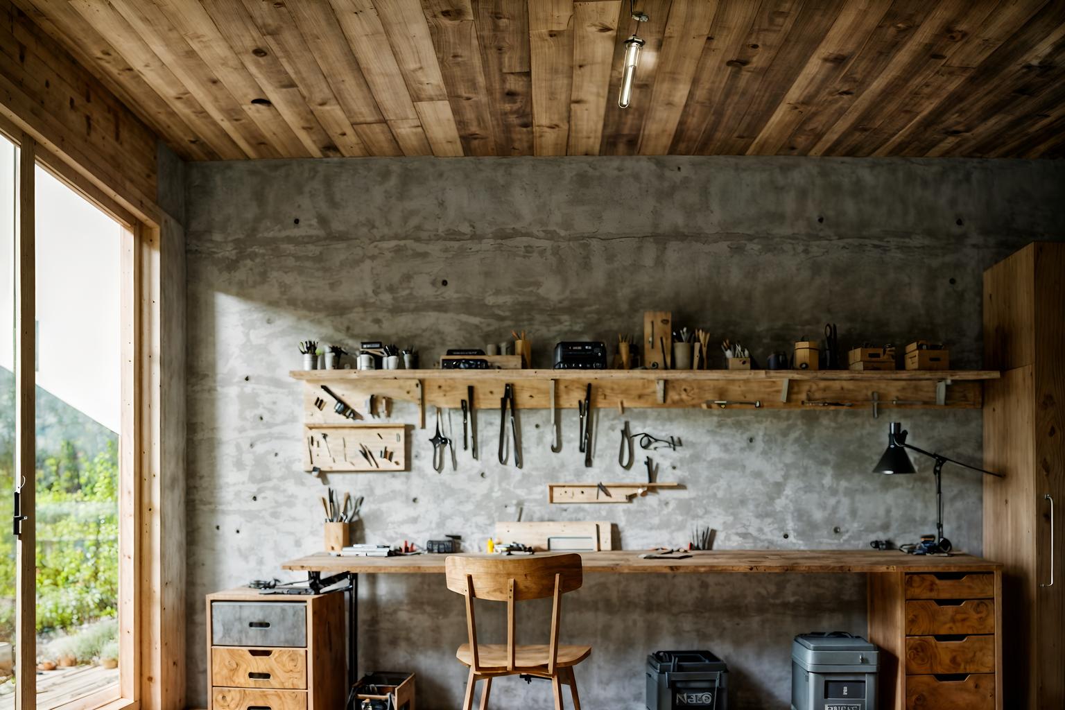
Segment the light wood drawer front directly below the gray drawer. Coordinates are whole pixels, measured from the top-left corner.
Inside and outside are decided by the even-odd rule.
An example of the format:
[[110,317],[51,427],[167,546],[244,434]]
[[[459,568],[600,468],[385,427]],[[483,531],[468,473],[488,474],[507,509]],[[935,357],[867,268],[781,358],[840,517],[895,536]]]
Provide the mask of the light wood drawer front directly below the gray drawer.
[[212,648],[211,684],[306,690],[307,651],[302,648]]

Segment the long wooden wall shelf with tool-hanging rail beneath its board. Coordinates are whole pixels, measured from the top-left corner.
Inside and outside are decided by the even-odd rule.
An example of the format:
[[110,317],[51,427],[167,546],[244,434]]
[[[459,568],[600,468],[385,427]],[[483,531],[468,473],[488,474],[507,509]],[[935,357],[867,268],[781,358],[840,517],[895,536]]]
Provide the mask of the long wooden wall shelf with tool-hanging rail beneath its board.
[[[478,410],[497,410],[504,384],[514,387],[520,409],[547,409],[555,382],[555,404],[575,409],[592,383],[592,406],[596,409],[705,409],[706,411],[752,409],[980,409],[982,380],[999,377],[986,370],[294,370],[293,379],[305,383],[307,424],[348,423],[332,411],[327,385],[362,423],[374,419],[365,412],[370,395],[390,397],[420,406],[420,424],[431,407],[459,409],[468,385],[474,387]],[[326,404],[318,409],[316,398]],[[717,406],[715,402],[759,402]]]

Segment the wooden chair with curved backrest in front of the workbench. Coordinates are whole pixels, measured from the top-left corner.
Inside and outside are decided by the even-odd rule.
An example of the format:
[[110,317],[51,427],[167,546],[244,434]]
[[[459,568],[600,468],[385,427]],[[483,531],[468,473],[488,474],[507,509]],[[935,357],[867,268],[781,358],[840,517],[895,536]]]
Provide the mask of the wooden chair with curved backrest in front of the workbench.
[[[470,666],[464,710],[473,709],[474,686],[485,681],[480,708],[488,708],[492,678],[526,674],[551,678],[555,709],[562,710],[562,686],[570,687],[574,710],[580,710],[573,666],[588,658],[591,646],[559,645],[562,595],[580,589],[583,580],[579,555],[537,555],[535,557],[449,557],[447,589],[465,597],[466,629],[470,643],[459,646],[455,656]],[[515,607],[519,601],[554,597],[551,615],[551,642],[547,645],[519,646],[514,637]],[[478,644],[474,599],[507,602],[507,643]]]

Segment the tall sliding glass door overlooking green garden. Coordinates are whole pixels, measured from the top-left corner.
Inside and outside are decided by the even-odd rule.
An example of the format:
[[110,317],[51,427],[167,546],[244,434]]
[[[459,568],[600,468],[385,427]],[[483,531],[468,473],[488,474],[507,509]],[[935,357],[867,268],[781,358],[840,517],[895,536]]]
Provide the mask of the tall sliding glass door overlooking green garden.
[[134,693],[133,232],[28,145],[0,135],[0,710],[93,710]]

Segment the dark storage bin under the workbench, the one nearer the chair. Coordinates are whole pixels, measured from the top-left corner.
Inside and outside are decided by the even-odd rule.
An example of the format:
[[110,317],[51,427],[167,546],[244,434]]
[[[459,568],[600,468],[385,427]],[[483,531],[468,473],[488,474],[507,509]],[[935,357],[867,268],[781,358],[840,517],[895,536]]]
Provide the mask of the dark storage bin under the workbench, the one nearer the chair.
[[648,656],[648,710],[727,710],[728,666],[708,650]]

